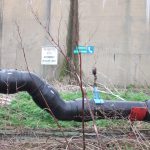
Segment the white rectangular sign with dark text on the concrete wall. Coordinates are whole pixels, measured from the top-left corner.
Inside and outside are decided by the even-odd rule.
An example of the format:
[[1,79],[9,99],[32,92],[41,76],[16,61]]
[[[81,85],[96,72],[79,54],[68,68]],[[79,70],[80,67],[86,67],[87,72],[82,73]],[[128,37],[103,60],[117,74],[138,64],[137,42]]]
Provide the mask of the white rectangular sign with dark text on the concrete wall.
[[42,47],[42,65],[57,65],[58,63],[58,50],[56,47]]

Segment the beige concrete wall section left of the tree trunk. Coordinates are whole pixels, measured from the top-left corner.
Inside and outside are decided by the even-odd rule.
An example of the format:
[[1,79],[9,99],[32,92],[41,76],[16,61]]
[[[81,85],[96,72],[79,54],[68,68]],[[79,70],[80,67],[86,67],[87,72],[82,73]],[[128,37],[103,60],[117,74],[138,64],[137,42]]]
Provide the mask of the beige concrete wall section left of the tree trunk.
[[[31,7],[46,26],[46,29],[58,41],[58,28],[61,20],[59,41],[65,51],[67,16],[64,7],[69,3],[60,3],[59,0],[1,0],[2,35],[0,49],[1,68],[14,68],[27,70],[23,50],[17,33],[16,22],[19,25],[22,36],[28,67],[30,71],[44,77],[47,80],[54,79],[59,74],[59,66],[62,56],[59,54],[57,66],[41,65],[41,50],[43,46],[51,46],[45,30],[36,22]],[[30,7],[31,6],[31,7]],[[68,9],[68,8],[67,8]],[[66,12],[68,11],[66,9]],[[63,11],[63,14],[61,14]]]

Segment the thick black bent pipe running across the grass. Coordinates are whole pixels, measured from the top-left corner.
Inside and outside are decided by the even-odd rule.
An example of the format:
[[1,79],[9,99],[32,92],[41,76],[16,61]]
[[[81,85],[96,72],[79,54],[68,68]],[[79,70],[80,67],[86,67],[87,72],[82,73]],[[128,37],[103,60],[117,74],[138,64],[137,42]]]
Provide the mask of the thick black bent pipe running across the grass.
[[[19,91],[27,91],[42,109],[49,112],[49,108],[54,116],[59,120],[82,121],[82,100],[63,101],[58,92],[37,75],[25,71],[0,70],[0,93],[14,94]],[[86,101],[85,101],[86,103]],[[150,121],[150,101],[128,102],[128,101],[105,101],[104,104],[96,105],[94,100],[89,101],[91,110],[97,119],[127,119],[132,108],[146,108],[146,113],[141,121]],[[85,121],[90,121],[90,111],[85,104]],[[136,117],[136,116],[135,116]]]

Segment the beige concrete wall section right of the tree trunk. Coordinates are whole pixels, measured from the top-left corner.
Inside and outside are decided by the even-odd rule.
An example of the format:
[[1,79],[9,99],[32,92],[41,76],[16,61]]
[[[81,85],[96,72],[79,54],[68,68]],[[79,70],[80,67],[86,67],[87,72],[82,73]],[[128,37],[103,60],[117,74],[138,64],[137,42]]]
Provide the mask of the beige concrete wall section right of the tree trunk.
[[83,55],[88,79],[95,66],[105,85],[149,85],[149,39],[146,0],[80,0],[80,44],[95,46]]

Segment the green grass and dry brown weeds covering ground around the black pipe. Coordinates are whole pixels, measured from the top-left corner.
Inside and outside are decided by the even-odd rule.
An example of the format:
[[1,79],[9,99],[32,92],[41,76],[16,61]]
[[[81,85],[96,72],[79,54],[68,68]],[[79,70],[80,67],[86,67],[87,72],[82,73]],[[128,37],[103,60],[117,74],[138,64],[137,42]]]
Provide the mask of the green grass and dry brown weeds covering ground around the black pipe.
[[[93,94],[91,91],[88,93],[88,98],[91,99]],[[103,99],[115,99],[114,96],[110,94],[101,94]],[[128,100],[137,100],[137,101],[144,101],[145,99],[149,99],[150,96],[144,94],[144,92],[133,92],[133,91],[125,91],[120,92],[120,96],[124,97]],[[81,92],[63,92],[61,93],[61,97],[67,101],[74,100],[74,99],[81,99]],[[18,93],[14,100],[11,102],[10,105],[5,105],[0,107],[0,131],[6,131],[6,133],[14,132],[13,138],[32,138],[31,143],[28,141],[28,145],[21,145],[14,141],[14,147],[12,149],[17,148],[21,149],[21,147],[28,147],[29,149],[67,149],[64,146],[64,139],[60,137],[60,132],[58,132],[58,126],[55,123],[54,119],[46,112],[41,110],[39,107],[36,106],[34,101],[32,100],[31,96],[28,95],[26,92]],[[81,139],[81,125],[82,123],[74,122],[74,121],[59,121],[59,124],[65,128],[65,135],[69,136],[69,146],[71,149],[82,149],[82,139]],[[141,134],[140,129],[146,127],[149,129],[149,124],[143,122],[136,122],[131,130],[130,122],[127,120],[97,120],[96,126],[99,129],[99,136],[102,139],[101,146],[104,149],[148,149],[149,148],[149,141],[146,137],[144,137],[144,132]],[[12,130],[7,130],[8,128],[12,128]],[[137,130],[137,127],[139,130]],[[16,128],[17,130],[14,130]],[[38,131],[36,132],[36,129]],[[56,131],[53,131],[55,134],[52,136],[48,132],[48,130],[53,128]],[[71,130],[70,130],[71,128]],[[72,129],[78,128],[78,129]],[[4,130],[3,130],[4,129]],[[25,131],[24,131],[25,129]],[[29,136],[26,135],[28,132],[26,129],[30,130]],[[40,130],[39,130],[40,129]],[[88,149],[99,149],[99,145],[97,140],[95,139],[95,134],[93,130],[93,123],[86,122],[85,123],[85,145]],[[46,131],[47,130],[47,131]],[[68,131],[67,131],[68,130]],[[31,132],[33,131],[33,133]],[[73,131],[73,132],[70,132]],[[136,131],[134,133],[134,131]],[[38,134],[39,133],[39,134]],[[41,143],[41,133],[43,134],[42,140],[44,141]],[[12,133],[11,133],[12,134]],[[33,134],[33,137],[30,137]],[[50,134],[49,137],[47,134]],[[9,135],[9,133],[8,133]],[[8,136],[7,134],[4,137]],[[59,137],[57,138],[56,135]],[[18,136],[18,137],[15,137]],[[145,138],[145,141],[142,138]],[[9,140],[10,137],[7,137],[8,140],[2,141],[1,147],[4,149],[9,148]],[[36,140],[35,140],[36,139]],[[56,140],[57,139],[57,140]],[[4,143],[5,142],[5,143]],[[33,143],[34,142],[34,143]],[[40,144],[39,144],[40,143]],[[40,147],[40,148],[39,148]]]

